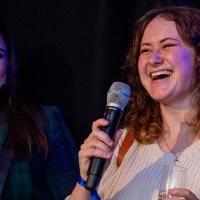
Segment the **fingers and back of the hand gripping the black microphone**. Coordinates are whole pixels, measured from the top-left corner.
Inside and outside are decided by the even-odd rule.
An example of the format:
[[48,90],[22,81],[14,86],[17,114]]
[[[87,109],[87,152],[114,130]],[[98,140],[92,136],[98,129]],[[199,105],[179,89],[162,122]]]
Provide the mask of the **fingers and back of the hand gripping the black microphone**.
[[92,125],[92,132],[81,145],[79,151],[80,175],[83,179],[87,179],[87,171],[91,157],[100,157],[109,159],[113,155],[113,141],[103,131],[103,126],[108,126],[109,122],[105,119],[99,119]]

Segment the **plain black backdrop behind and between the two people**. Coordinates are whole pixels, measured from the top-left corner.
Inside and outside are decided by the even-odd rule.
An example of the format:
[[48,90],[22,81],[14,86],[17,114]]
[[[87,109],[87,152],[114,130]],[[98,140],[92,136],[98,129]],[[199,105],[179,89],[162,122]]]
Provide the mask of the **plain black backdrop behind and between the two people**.
[[0,0],[0,18],[14,40],[29,99],[61,108],[78,145],[102,117],[132,25],[148,9],[200,7],[181,0]]

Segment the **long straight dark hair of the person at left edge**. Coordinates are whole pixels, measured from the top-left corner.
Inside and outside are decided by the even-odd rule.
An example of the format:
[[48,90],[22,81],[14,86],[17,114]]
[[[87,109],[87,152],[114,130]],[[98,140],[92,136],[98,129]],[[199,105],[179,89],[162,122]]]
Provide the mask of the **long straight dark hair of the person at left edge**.
[[38,152],[47,152],[47,140],[38,123],[45,125],[45,116],[40,106],[25,103],[20,94],[13,42],[5,25],[0,22],[0,36],[7,47],[8,66],[6,84],[0,89],[1,116],[6,116],[8,135],[5,146],[11,148],[13,159],[29,159],[33,147]]

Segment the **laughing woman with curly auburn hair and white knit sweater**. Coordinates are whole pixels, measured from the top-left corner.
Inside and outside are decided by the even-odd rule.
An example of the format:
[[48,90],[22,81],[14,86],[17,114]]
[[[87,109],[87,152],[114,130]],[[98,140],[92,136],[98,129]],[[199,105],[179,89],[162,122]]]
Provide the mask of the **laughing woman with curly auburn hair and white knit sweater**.
[[[108,121],[95,121],[79,152],[81,180],[91,157],[111,159],[97,189],[100,199],[159,199],[161,172],[175,165],[186,168],[187,187],[162,190],[164,198],[200,199],[199,58],[200,10],[153,9],[136,22],[124,65],[132,92],[123,129],[112,141],[102,131]],[[118,166],[127,136],[134,140]],[[79,182],[68,199],[89,200],[90,192]]]

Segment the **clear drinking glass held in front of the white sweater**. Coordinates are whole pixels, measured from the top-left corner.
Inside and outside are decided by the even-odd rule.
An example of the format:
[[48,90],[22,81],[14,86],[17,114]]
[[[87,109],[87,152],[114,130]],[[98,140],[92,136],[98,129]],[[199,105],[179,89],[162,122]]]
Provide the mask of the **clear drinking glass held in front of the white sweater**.
[[186,188],[186,171],[186,168],[180,166],[164,166],[158,199],[185,199],[168,194],[168,190]]

